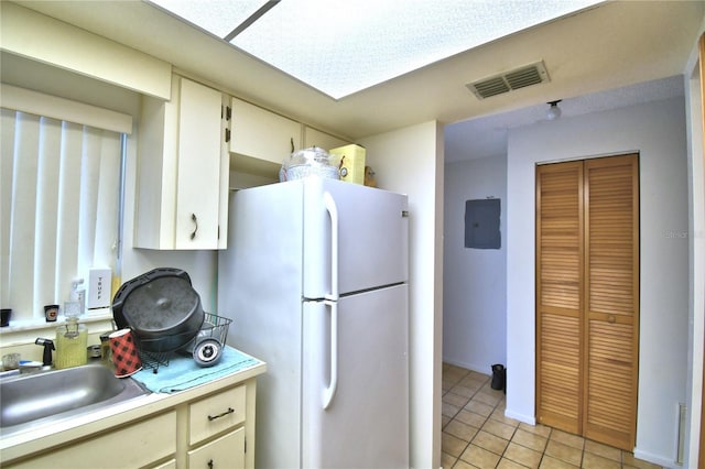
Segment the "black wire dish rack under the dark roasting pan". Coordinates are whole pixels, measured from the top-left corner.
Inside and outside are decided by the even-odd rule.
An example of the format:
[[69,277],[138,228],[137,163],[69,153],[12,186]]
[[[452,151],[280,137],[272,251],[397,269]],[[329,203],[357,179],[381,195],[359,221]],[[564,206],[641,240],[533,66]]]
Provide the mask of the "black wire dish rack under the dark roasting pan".
[[[140,359],[142,360],[142,368],[152,369],[153,372],[156,373],[159,371],[159,367],[169,367],[169,360],[173,353],[191,356],[194,346],[205,339],[215,339],[221,346],[225,346],[225,341],[228,338],[230,323],[232,323],[232,319],[227,317],[218,316],[213,313],[204,313],[204,320],[200,329],[178,335],[193,338],[177,350],[170,349],[172,340],[169,338],[139,340],[138,350]],[[144,343],[149,343],[149,347],[147,347],[149,350],[143,349]]]

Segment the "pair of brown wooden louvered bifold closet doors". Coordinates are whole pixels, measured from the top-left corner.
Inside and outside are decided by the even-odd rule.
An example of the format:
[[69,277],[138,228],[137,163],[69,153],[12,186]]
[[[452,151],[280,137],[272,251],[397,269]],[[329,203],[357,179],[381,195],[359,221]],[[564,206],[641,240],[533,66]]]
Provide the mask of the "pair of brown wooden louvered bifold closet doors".
[[536,168],[536,419],[636,438],[638,156]]

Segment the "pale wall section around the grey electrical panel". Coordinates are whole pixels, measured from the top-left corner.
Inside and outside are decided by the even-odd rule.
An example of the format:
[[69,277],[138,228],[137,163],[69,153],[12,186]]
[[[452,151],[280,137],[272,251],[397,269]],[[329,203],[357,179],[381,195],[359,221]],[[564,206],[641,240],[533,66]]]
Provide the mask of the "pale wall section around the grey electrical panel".
[[[465,248],[465,201],[501,204],[501,248]],[[507,157],[445,168],[443,361],[490,374],[507,363]]]

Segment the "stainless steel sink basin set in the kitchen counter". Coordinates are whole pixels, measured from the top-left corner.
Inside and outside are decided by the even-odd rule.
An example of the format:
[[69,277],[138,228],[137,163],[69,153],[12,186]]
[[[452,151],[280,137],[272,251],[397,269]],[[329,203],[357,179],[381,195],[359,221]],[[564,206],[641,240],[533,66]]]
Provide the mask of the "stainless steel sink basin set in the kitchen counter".
[[[3,373],[4,374],[4,373]],[[149,394],[131,378],[119,379],[101,364],[15,373],[0,378],[0,428],[63,419]]]

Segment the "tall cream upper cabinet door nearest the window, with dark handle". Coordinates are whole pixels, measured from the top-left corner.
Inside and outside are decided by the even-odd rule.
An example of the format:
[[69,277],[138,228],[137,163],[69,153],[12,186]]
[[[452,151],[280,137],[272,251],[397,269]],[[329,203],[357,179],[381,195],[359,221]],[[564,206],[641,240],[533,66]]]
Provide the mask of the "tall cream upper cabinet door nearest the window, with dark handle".
[[182,78],[178,109],[176,249],[217,249],[221,95]]

